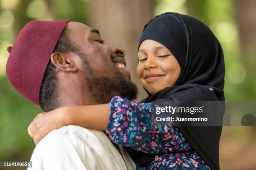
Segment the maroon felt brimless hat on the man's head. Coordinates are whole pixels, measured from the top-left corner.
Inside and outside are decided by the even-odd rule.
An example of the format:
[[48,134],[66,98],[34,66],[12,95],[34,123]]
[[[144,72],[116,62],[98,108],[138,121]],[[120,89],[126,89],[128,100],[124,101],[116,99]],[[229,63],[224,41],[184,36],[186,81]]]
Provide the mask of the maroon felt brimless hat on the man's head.
[[29,22],[20,31],[10,52],[6,74],[20,94],[39,105],[44,72],[69,20]]

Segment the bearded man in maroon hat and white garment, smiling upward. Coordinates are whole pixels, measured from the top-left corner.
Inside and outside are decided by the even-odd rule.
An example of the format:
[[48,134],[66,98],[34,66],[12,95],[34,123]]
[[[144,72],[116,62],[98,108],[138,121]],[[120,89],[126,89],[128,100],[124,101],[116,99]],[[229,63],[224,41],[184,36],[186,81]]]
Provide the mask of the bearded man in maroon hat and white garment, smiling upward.
[[[82,23],[32,21],[8,51],[10,83],[46,112],[107,103],[114,95],[130,100],[137,95],[125,69],[124,50],[104,45],[98,30]],[[69,125],[38,143],[32,169],[134,169],[123,148],[121,153],[125,161],[103,132]]]

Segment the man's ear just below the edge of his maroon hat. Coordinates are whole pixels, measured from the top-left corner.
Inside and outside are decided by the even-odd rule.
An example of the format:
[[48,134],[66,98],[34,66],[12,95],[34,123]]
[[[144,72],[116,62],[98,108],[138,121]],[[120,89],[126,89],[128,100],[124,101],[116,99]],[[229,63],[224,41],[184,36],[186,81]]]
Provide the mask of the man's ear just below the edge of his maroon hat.
[[77,72],[78,68],[74,65],[73,60],[61,52],[54,52],[51,55],[51,62],[55,67],[66,72]]

